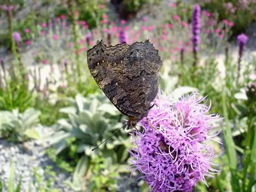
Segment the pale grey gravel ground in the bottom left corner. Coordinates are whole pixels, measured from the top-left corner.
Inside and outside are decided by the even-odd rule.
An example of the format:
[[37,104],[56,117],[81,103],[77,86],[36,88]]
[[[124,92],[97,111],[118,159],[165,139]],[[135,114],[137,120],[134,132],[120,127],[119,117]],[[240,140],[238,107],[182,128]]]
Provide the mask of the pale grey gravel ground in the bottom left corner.
[[[45,133],[52,131],[49,127],[38,127],[37,130]],[[70,179],[70,174],[60,170],[45,154],[44,148],[45,146],[37,140],[17,144],[0,139],[0,178],[2,181],[8,183],[10,164],[13,160],[15,163],[15,186],[17,186],[19,176],[22,175],[22,191],[29,191],[30,183],[35,181],[31,175],[33,167],[37,167],[37,173],[47,180],[48,178],[44,174],[47,166],[52,166],[52,170],[56,173],[52,187],[63,192],[70,191],[70,188],[63,183],[66,179]],[[4,191],[7,191],[7,187],[4,187]],[[33,184],[31,191],[36,191]]]

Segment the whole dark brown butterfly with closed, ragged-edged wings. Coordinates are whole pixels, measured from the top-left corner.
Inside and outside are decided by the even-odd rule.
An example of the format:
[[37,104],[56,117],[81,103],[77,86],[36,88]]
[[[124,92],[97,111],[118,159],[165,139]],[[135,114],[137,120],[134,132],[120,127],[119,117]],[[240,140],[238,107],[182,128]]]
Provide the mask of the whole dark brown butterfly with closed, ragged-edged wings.
[[89,70],[116,108],[129,117],[127,129],[147,116],[158,93],[162,61],[149,40],[106,47],[97,41],[87,52]]

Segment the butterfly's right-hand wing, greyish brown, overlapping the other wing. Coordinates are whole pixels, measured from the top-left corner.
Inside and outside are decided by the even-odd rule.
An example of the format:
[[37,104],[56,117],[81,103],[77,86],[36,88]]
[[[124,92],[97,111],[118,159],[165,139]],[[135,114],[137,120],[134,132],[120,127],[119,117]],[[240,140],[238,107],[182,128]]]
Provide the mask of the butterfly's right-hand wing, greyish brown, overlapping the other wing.
[[123,62],[126,74],[124,91],[132,108],[143,118],[158,93],[161,58],[158,50],[147,40],[131,45]]

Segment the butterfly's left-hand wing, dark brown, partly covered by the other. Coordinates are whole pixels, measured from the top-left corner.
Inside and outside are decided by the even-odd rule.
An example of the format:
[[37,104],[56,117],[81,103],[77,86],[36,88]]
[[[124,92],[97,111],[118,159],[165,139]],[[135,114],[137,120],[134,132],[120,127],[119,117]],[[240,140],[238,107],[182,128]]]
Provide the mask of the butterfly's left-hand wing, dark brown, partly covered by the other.
[[125,72],[123,58],[129,49],[126,43],[106,47],[102,40],[87,52],[89,70],[100,89],[116,108],[127,116],[138,116],[132,108],[124,87]]

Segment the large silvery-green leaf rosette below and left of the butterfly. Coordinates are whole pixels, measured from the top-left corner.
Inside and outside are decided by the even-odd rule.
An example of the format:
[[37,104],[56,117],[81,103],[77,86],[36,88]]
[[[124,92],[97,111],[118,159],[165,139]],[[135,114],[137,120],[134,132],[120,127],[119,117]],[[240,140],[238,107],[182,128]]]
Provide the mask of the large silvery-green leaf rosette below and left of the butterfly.
[[90,176],[92,159],[102,156],[111,166],[124,163],[129,157],[127,149],[131,147],[131,143],[127,131],[121,129],[92,151],[94,146],[122,126],[119,122],[122,115],[103,94],[87,98],[77,94],[75,99],[67,98],[67,101],[70,106],[61,108],[60,112],[66,113],[68,118],[59,119],[55,133],[46,140],[54,148],[56,155],[67,157],[67,153],[73,151],[74,157],[80,157],[73,175],[73,188],[76,190],[75,186],[80,188],[82,178]]

